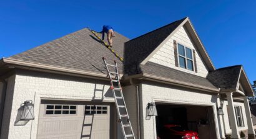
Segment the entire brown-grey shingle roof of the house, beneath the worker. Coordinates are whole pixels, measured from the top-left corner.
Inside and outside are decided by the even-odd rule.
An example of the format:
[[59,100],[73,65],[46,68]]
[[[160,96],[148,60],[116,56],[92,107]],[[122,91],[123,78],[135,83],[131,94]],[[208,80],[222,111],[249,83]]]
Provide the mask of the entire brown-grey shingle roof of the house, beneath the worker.
[[120,73],[123,74],[147,73],[212,89],[234,88],[241,66],[217,69],[210,72],[207,78],[202,78],[152,62],[140,65],[184,20],[177,20],[132,40],[116,32],[112,48],[121,57],[124,57],[124,63],[102,45],[89,29],[79,30],[10,58],[94,73],[103,72],[102,74],[104,74],[106,72],[102,62],[102,56],[104,56],[107,61],[116,60],[120,67]]

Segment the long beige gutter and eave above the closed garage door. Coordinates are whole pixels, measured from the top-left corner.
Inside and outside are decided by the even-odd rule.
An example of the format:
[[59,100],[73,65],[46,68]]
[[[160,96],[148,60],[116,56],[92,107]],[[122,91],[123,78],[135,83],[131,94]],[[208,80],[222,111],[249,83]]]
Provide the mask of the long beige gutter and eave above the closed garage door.
[[[71,68],[63,68],[61,66],[44,65],[41,63],[34,63],[29,61],[14,60],[11,58],[2,58],[0,60],[0,69],[27,69],[32,71],[41,71],[46,73],[65,74],[69,76],[79,76],[93,79],[109,80],[106,74],[94,73],[90,71],[82,71]],[[1,70],[0,70],[1,71]],[[122,74],[120,75],[122,77]]]

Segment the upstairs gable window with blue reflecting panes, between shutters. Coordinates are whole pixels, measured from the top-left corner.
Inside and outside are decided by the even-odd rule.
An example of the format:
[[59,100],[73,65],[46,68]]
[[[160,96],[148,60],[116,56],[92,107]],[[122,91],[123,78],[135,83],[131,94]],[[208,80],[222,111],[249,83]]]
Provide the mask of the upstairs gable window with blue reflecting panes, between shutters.
[[192,50],[178,43],[179,66],[194,71]]

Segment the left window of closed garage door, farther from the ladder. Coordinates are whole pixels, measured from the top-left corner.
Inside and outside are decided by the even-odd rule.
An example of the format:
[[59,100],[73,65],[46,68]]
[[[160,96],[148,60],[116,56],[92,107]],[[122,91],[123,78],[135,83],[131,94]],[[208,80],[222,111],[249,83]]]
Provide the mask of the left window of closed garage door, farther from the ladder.
[[46,115],[76,114],[76,105],[46,105]]

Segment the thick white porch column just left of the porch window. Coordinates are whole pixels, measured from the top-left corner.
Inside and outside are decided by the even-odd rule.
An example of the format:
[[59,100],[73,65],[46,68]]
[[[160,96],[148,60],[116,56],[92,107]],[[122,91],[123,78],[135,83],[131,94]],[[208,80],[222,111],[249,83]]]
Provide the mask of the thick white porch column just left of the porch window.
[[232,130],[231,138],[237,139],[240,138],[239,130],[237,128],[237,120],[235,118],[235,108],[233,102],[233,92],[227,92],[227,102],[229,106],[229,114],[230,114],[230,125]]

